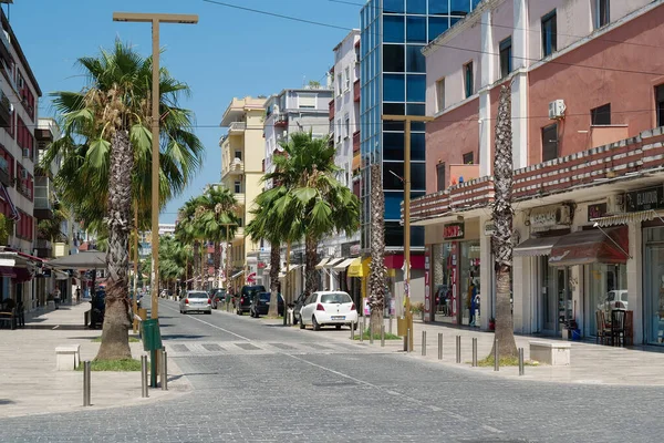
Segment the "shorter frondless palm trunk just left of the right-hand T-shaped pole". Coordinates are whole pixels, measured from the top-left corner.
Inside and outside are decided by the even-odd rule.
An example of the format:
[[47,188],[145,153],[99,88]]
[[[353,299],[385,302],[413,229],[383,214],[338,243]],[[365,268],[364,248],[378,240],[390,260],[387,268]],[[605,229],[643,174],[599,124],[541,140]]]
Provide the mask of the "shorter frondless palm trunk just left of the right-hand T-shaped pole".
[[[371,166],[371,264],[369,265],[369,307],[371,309],[371,333],[381,332],[385,310],[385,197],[381,177],[381,165]],[[364,333],[364,331],[362,332]]]

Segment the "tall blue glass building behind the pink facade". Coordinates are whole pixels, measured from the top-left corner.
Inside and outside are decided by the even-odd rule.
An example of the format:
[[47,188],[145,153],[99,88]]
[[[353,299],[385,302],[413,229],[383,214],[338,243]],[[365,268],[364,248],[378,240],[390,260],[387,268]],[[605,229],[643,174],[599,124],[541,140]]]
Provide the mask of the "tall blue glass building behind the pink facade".
[[[385,241],[403,249],[404,124],[381,114],[425,115],[426,66],[422,49],[468,14],[480,0],[369,0],[361,12],[362,247],[370,245],[369,166],[382,164]],[[425,194],[424,123],[411,134],[411,198]],[[411,245],[424,247],[424,228],[412,228]]]

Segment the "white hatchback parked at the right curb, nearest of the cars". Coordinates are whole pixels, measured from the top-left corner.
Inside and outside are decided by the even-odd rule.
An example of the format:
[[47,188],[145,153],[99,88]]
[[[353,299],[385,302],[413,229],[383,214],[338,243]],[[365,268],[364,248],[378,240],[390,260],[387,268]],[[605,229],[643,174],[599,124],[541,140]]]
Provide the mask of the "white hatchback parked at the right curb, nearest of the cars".
[[313,292],[304,300],[300,310],[300,329],[308,324],[314,331],[328,324],[334,324],[336,329],[341,329],[343,324],[357,329],[357,309],[346,292]]

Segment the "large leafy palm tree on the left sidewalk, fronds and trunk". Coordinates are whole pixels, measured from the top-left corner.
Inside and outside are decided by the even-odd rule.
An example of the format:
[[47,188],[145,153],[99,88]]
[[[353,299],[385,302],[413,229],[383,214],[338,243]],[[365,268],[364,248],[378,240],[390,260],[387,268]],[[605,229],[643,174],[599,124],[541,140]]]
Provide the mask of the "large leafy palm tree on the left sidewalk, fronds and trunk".
[[[62,114],[63,137],[51,144],[44,164],[62,155],[54,182],[63,202],[90,224],[103,220],[108,233],[108,284],[102,344],[96,359],[131,358],[127,297],[132,204],[145,208],[151,169],[149,97],[152,59],[115,42],[112,51],[81,58],[89,79],[80,92],[53,93]],[[162,203],[180,192],[200,165],[203,146],[190,132],[193,115],[177,106],[188,86],[160,71]]]

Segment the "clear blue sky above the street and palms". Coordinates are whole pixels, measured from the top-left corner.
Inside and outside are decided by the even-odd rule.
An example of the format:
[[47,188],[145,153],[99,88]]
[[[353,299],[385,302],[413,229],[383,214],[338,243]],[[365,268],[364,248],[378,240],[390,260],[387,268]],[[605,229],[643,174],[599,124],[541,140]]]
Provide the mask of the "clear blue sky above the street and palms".
[[[362,0],[354,0],[362,3]],[[360,6],[329,0],[224,0],[246,8],[271,11],[343,28],[360,25]],[[8,7],[3,6],[6,13]],[[224,130],[221,113],[234,96],[269,95],[320,80],[333,64],[332,49],[347,33],[313,24],[260,16],[203,0],[14,0],[10,23],[43,92],[40,116],[52,116],[49,93],[76,91],[84,84],[77,58],[110,48],[116,37],[149,55],[147,23],[113,22],[114,11],[196,13],[199,23],[164,24],[162,63],[191,89],[184,103],[196,113],[197,134],[206,146],[204,167],[178,198],[162,213],[162,223],[207,183],[219,181]]]

